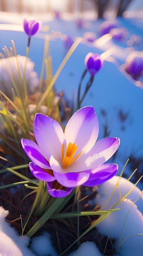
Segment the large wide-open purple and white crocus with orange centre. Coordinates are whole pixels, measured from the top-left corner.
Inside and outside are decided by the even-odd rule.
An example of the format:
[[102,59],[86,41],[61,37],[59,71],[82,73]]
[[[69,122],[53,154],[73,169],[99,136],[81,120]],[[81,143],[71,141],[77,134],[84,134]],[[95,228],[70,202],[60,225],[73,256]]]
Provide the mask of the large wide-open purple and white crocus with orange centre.
[[[37,144],[22,139],[31,173],[46,181],[53,197],[69,195],[76,186],[95,186],[117,173],[117,164],[103,164],[117,150],[119,138],[98,138],[98,118],[92,106],[76,111],[69,119],[65,132],[47,115],[37,113],[34,135]],[[96,142],[96,143],[95,143]]]

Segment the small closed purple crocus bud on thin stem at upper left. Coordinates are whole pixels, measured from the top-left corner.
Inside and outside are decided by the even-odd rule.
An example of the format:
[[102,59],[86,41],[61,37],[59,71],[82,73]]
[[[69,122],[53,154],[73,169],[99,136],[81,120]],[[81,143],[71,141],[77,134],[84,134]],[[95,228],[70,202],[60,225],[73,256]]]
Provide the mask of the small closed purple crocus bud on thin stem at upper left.
[[23,27],[25,33],[28,35],[29,38],[31,38],[31,36],[34,36],[41,29],[41,21],[28,20],[28,18],[24,16]]

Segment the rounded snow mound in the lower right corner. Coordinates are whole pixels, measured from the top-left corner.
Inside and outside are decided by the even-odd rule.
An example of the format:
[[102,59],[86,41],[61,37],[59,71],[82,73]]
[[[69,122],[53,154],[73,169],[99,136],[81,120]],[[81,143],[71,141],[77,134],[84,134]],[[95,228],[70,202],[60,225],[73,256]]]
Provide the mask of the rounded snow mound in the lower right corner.
[[[115,184],[119,180],[119,186],[111,196]],[[119,208],[119,210],[112,212],[102,220],[97,229],[100,234],[116,239],[114,248],[116,250],[119,249],[119,253],[122,256],[141,255],[143,251],[143,235],[137,235],[143,234],[143,214],[141,213],[141,211],[143,212],[143,192],[138,187],[135,187],[123,201],[119,202],[133,186],[134,184],[125,178],[115,176],[111,180],[104,182],[97,189],[98,196],[95,198],[95,204],[100,205],[100,210]],[[110,196],[111,199],[106,204]],[[138,198],[139,200],[134,203]]]

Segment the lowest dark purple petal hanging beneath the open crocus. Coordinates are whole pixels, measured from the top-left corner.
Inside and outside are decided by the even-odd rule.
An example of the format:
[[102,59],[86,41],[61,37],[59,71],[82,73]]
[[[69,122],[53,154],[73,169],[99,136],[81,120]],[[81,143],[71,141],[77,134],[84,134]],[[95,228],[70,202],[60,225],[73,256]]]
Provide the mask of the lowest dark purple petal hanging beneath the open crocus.
[[73,188],[66,188],[65,190],[62,189],[54,189],[53,188],[53,182],[46,182],[47,183],[47,189],[48,189],[48,193],[50,195],[52,195],[54,198],[62,198],[64,196],[69,195]]

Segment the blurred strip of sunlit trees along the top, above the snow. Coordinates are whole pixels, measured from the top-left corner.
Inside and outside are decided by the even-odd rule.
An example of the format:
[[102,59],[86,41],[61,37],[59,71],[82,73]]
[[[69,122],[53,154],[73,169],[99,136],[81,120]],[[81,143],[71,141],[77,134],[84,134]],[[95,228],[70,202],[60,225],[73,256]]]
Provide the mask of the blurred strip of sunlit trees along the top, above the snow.
[[143,0],[0,0],[0,11],[16,13],[93,12],[96,18],[110,13],[143,11]]

